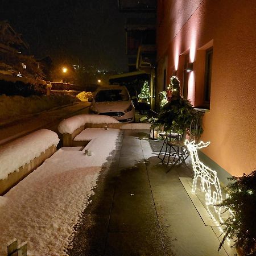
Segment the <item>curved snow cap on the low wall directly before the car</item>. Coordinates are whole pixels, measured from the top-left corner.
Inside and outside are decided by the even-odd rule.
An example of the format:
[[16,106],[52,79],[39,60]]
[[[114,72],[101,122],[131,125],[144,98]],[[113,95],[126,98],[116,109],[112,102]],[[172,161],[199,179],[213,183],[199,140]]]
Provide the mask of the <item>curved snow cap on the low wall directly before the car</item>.
[[85,123],[120,123],[117,119],[109,117],[108,115],[91,115],[82,114],[75,115],[60,122],[58,130],[61,134],[72,134],[77,128]]

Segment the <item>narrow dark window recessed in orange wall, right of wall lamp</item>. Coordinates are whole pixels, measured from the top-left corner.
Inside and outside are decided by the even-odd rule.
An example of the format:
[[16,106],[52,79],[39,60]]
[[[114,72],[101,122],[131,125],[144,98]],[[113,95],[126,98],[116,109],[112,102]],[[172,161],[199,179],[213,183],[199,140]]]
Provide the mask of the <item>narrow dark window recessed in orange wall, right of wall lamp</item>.
[[204,83],[204,101],[205,105],[210,105],[210,85],[212,81],[212,56],[213,48],[205,52],[205,83]]

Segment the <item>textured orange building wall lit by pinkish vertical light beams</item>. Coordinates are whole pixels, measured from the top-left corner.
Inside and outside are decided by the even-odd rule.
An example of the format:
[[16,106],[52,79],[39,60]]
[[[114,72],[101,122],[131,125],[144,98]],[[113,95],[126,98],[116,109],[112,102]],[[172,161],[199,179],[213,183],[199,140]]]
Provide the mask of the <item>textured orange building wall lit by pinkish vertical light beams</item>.
[[[167,80],[177,69],[182,80],[182,54],[189,53],[188,98],[200,102],[201,61],[213,45],[210,111],[204,115],[204,154],[234,176],[256,168],[256,1],[159,0],[158,62],[168,56]],[[203,72],[204,73],[204,72]]]

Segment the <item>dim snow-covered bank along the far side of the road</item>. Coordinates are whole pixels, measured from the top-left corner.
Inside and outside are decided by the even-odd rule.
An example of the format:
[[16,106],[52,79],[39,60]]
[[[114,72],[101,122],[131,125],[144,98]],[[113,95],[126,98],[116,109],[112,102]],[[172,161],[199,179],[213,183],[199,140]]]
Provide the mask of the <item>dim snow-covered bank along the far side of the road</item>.
[[80,102],[80,100],[70,95],[22,97],[2,94],[0,95],[0,125],[74,102]]

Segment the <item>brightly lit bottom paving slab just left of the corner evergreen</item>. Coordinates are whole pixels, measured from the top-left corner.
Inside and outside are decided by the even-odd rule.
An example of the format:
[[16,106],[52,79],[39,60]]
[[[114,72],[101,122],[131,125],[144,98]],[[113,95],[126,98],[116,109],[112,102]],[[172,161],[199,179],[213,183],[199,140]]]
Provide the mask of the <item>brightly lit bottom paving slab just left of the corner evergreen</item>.
[[199,214],[164,214],[159,221],[167,255],[227,256],[223,249],[218,252],[218,238]]

